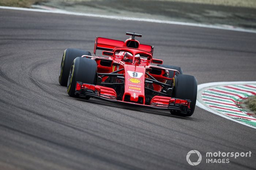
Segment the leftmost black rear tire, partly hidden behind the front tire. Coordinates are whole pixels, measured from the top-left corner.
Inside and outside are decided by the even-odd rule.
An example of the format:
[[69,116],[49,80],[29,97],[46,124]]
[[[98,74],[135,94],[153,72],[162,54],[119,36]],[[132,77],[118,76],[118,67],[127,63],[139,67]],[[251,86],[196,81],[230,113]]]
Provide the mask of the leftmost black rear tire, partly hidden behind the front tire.
[[67,86],[68,83],[68,75],[70,71],[71,64],[74,59],[77,57],[81,57],[82,55],[90,55],[89,51],[78,50],[74,48],[67,48],[62,56],[61,64],[60,64],[60,74],[59,74],[59,83],[61,86]]

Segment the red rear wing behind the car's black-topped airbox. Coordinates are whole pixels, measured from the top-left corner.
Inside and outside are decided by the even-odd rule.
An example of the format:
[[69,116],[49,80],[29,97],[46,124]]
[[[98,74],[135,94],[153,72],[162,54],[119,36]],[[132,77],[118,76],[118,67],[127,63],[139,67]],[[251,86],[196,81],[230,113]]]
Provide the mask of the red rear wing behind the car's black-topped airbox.
[[[108,38],[96,37],[94,44],[94,54],[96,50],[112,51],[115,47],[124,47],[124,41],[113,40]],[[139,44],[139,50],[151,52],[153,54],[154,47],[146,44]]]

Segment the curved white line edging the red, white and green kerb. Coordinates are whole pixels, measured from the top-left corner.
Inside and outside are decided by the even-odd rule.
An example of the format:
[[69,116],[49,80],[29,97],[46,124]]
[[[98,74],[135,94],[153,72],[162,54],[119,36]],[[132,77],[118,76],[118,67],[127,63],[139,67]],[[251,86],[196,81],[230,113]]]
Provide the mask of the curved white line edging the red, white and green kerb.
[[211,108],[205,106],[205,105],[203,104],[203,102],[201,102],[201,101],[198,100],[198,98],[200,97],[199,95],[201,95],[201,94],[199,94],[198,92],[201,91],[201,90],[204,89],[204,88],[209,88],[209,87],[212,87],[212,86],[220,86],[220,85],[223,86],[223,85],[229,85],[229,84],[232,84],[232,85],[233,85],[233,84],[251,84],[251,83],[254,83],[254,84],[255,84],[256,82],[212,82],[212,83],[199,84],[199,85],[197,86],[197,100],[196,100],[196,106],[198,106],[198,107],[200,107],[200,108],[202,108],[202,109],[204,109],[204,110],[207,110],[207,111],[209,111],[209,112],[211,112],[211,113],[213,113],[213,114],[219,115],[219,116],[221,116],[221,117],[223,117],[223,118],[226,118],[226,119],[232,120],[232,121],[234,121],[234,122],[237,122],[237,123],[240,123],[240,124],[244,124],[245,126],[252,127],[253,129],[256,129],[255,126],[252,126],[252,125],[247,124],[247,123],[244,123],[244,122],[242,122],[242,121],[239,121],[239,120],[230,118],[229,116],[226,116],[226,115],[223,115],[223,114],[221,114],[221,113],[219,113],[219,112],[217,112],[217,111],[214,111],[214,110],[212,110]]

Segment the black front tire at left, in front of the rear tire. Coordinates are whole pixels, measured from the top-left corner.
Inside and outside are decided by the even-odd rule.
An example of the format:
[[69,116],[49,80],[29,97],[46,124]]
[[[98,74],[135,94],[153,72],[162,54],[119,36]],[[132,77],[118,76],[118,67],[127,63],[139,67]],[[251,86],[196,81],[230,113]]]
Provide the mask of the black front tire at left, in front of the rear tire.
[[[95,60],[77,57],[73,61],[68,76],[68,95],[75,97],[76,82],[96,84],[97,63]],[[89,99],[89,98],[87,98]]]

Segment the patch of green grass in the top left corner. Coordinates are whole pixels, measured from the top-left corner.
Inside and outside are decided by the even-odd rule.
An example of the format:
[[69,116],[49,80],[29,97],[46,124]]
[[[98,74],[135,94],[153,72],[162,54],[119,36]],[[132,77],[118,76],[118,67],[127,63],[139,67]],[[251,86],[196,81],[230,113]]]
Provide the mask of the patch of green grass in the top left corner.
[[0,0],[0,6],[30,8],[31,5],[47,0]]

